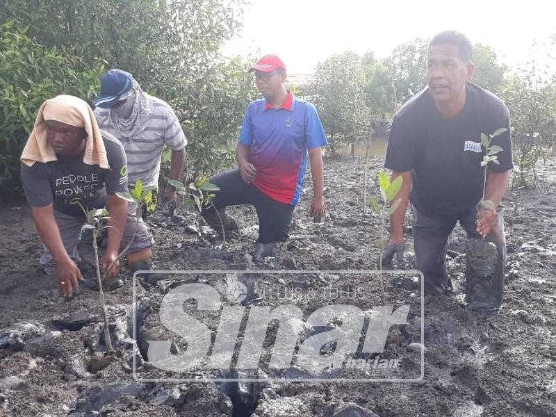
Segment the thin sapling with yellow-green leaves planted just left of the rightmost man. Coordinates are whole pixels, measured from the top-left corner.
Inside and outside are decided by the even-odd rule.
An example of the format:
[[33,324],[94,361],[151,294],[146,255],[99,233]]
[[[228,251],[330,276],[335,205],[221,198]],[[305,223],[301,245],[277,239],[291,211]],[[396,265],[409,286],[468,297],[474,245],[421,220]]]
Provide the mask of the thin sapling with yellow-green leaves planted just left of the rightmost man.
[[380,195],[382,197],[382,204],[378,202],[378,199],[376,197],[371,196],[369,198],[370,206],[373,207],[373,211],[375,211],[375,213],[377,213],[377,215],[380,216],[380,239],[378,240],[378,247],[380,251],[379,278],[380,278],[380,291],[382,292],[383,302],[384,302],[384,280],[382,277],[382,266],[383,266],[382,251],[384,251],[386,245],[388,245],[388,238],[386,238],[385,236],[386,234],[385,222],[386,222],[386,217],[393,215],[393,213],[395,213],[395,211],[398,210],[398,207],[402,202],[402,199],[400,198],[395,199],[394,201],[395,196],[398,195],[398,191],[402,187],[402,181],[403,178],[401,175],[396,179],[394,179],[394,181],[390,181],[390,177],[386,173],[386,171],[379,170],[378,183],[380,188]]

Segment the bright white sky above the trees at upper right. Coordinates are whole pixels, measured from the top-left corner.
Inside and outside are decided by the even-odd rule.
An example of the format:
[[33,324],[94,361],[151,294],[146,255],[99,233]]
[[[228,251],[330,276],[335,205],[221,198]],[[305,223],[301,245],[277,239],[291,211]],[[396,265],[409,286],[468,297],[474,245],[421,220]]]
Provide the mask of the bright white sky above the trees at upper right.
[[[446,29],[493,47],[500,62],[525,62],[534,40],[556,34],[556,3],[527,1],[252,0],[242,33],[227,56],[278,54],[289,74],[311,74],[332,54],[374,51],[384,58],[400,43]],[[554,68],[556,70],[556,68]]]

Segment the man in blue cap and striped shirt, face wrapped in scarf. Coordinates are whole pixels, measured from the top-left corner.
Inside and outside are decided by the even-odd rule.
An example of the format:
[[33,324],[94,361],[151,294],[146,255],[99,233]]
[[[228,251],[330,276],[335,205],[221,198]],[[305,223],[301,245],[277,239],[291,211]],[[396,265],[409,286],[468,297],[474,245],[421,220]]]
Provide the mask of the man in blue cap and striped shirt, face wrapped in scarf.
[[[130,184],[140,179],[143,186],[158,188],[165,146],[172,149],[170,179],[181,179],[187,140],[165,101],[143,92],[129,72],[109,70],[101,77],[100,95],[93,103],[100,128],[124,146]],[[176,191],[167,186],[163,202],[175,198]]]

